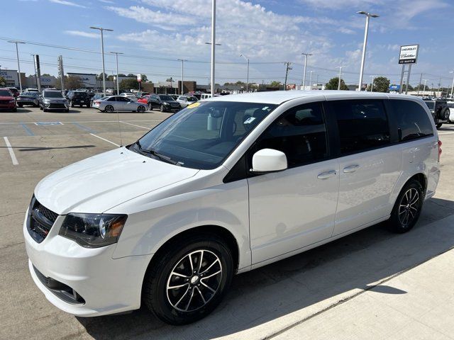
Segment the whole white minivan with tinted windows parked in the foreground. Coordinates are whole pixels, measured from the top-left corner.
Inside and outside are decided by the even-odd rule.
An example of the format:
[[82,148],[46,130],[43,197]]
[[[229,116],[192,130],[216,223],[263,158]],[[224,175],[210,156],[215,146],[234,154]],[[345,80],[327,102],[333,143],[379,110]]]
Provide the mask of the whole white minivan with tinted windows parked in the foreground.
[[31,276],[82,317],[135,310],[186,324],[236,273],[378,222],[407,232],[440,176],[419,98],[353,91],[220,96],[36,186]]

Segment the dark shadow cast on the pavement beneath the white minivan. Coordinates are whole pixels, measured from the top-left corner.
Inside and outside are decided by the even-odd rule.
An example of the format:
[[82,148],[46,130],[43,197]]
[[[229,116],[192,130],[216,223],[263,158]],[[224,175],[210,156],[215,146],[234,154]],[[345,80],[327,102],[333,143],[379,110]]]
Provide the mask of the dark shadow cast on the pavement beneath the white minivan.
[[[259,327],[353,289],[368,290],[454,246],[454,228],[441,221],[454,202],[432,198],[411,232],[392,234],[381,223],[335,242],[243,273],[209,317],[181,327],[141,308],[131,314],[77,320],[95,339],[212,339]],[[115,283],[112,283],[115,284]],[[379,294],[406,294],[384,283]],[[237,334],[238,336],[238,334]]]

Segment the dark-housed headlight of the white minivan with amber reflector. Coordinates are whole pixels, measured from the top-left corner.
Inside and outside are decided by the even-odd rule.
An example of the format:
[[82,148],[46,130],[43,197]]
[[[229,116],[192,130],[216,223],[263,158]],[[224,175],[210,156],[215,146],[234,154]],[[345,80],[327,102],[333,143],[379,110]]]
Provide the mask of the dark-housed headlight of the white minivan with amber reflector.
[[108,246],[118,241],[126,218],[128,215],[68,214],[58,234],[87,248]]

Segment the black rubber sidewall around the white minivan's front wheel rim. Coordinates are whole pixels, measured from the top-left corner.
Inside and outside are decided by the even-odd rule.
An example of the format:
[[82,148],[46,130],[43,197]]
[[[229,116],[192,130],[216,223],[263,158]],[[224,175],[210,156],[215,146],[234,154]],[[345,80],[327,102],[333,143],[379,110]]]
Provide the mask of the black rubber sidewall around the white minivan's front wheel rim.
[[[189,242],[185,242],[185,244],[188,243]],[[228,247],[215,237],[193,239],[187,246],[180,248],[175,247],[175,249],[177,250],[170,251],[163,261],[160,261],[160,265],[157,266],[155,271],[155,277],[151,278],[148,282],[148,284],[153,287],[151,290],[148,290],[149,294],[145,298],[148,307],[158,318],[162,319],[162,321],[170,324],[189,324],[208,315],[221,302],[231,284],[233,276],[233,257]],[[216,295],[214,295],[204,307],[201,307],[199,310],[194,310],[193,312],[180,312],[175,310],[167,300],[167,280],[172,269],[184,256],[199,249],[212,251],[220,259],[223,268],[221,283]],[[147,290],[145,290],[145,292],[146,291]]]

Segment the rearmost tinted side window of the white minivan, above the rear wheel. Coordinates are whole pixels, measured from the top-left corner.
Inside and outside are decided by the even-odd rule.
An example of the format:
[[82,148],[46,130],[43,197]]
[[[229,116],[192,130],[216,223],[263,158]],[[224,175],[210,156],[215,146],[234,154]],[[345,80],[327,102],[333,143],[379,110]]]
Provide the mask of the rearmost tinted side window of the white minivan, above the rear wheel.
[[391,100],[394,119],[397,122],[400,140],[433,135],[432,124],[423,107],[414,101]]

